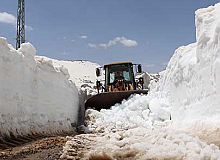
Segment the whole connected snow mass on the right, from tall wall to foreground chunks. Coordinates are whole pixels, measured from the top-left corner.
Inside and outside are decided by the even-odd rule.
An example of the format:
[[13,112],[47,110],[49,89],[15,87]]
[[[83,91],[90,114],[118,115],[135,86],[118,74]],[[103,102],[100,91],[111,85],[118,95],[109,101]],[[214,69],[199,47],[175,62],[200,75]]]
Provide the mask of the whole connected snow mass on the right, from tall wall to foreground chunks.
[[[197,42],[178,48],[159,82],[110,110],[87,111],[85,159],[220,160],[220,3],[196,11]],[[171,120],[170,120],[171,119]]]

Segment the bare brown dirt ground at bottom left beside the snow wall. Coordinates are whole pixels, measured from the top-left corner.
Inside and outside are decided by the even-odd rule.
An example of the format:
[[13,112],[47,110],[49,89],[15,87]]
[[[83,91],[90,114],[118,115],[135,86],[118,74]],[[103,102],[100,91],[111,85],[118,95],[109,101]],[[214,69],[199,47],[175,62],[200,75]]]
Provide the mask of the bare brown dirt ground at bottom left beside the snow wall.
[[49,137],[0,151],[0,160],[58,160],[68,137]]

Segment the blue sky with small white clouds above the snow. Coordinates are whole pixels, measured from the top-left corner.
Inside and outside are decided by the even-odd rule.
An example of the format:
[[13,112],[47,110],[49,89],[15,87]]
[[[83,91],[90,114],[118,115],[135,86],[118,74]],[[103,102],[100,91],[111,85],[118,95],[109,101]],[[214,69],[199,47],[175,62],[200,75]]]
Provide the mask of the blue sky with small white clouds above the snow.
[[[155,73],[165,68],[176,48],[195,42],[195,10],[218,2],[26,0],[26,40],[38,55],[100,65],[132,61]],[[16,16],[16,9],[17,0],[1,0],[0,36],[14,46],[10,16]]]

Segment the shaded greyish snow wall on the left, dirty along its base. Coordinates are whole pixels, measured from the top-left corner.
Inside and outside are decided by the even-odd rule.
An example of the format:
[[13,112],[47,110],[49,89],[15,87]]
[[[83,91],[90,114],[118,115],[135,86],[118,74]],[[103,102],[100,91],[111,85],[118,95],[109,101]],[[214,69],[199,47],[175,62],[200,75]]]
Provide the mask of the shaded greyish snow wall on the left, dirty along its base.
[[35,53],[29,43],[16,51],[0,37],[0,137],[69,132],[77,122],[78,91],[68,70]]

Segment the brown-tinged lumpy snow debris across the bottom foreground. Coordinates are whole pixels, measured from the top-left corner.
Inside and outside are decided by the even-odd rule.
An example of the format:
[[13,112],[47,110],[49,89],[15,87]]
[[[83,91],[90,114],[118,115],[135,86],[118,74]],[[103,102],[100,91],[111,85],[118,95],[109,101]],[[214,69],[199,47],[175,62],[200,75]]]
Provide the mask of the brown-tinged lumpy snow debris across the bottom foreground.
[[[83,143],[83,146],[80,144]],[[81,159],[219,159],[219,147],[169,127],[133,128],[105,134],[78,135],[64,147],[61,158],[82,153]],[[77,151],[75,150],[77,148]],[[74,150],[73,150],[74,149]],[[85,151],[86,150],[86,151]]]

